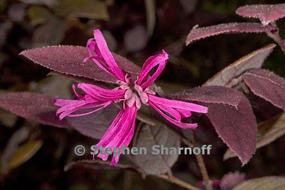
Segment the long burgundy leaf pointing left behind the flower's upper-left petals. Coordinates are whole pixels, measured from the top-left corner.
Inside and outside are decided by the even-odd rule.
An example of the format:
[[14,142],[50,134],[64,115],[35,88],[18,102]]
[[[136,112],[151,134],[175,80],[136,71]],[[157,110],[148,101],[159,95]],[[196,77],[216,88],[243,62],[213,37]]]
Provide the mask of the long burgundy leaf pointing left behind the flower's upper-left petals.
[[[86,47],[51,46],[25,50],[20,54],[60,73],[112,83],[117,81],[115,77],[100,69],[92,60],[83,62],[83,59],[89,56]],[[115,53],[113,55],[121,69],[133,74],[140,73],[140,67],[120,55]]]

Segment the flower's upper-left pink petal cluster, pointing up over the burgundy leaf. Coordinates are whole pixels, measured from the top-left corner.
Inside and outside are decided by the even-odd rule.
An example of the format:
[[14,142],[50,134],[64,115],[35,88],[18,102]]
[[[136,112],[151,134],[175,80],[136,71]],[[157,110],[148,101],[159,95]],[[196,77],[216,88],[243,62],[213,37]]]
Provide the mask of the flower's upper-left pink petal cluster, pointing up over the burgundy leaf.
[[100,30],[94,30],[94,39],[87,42],[89,57],[84,59],[92,59],[98,67],[113,75],[120,81],[125,81],[125,73],[118,67],[111,51],[109,50],[103,34]]

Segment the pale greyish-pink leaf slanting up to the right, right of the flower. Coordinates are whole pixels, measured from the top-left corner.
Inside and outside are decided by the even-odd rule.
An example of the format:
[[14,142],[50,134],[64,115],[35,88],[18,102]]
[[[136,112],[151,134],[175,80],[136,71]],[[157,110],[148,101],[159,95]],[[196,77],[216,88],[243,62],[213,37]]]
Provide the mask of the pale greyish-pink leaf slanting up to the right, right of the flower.
[[239,76],[246,70],[261,68],[274,47],[275,44],[270,44],[241,57],[210,78],[203,86],[235,86],[241,80]]

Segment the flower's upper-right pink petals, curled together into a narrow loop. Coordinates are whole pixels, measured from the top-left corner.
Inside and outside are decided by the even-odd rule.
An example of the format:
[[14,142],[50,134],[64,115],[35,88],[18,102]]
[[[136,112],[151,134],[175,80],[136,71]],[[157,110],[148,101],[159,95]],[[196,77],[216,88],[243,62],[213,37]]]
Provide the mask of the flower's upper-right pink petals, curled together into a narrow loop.
[[[148,59],[146,59],[146,61],[142,66],[142,71],[136,84],[141,86],[143,90],[149,87],[164,69],[167,59],[168,59],[168,54],[164,50],[162,50],[162,53],[151,56]],[[156,65],[158,65],[156,71],[153,73],[152,76],[148,78],[149,72]]]

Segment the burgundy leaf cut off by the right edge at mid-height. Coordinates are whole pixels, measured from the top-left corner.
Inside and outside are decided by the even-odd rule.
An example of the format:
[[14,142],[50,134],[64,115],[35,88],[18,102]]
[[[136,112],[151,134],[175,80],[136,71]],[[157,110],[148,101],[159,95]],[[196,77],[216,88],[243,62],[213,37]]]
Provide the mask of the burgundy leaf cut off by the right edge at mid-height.
[[251,91],[285,110],[285,79],[265,69],[252,69],[242,75]]

